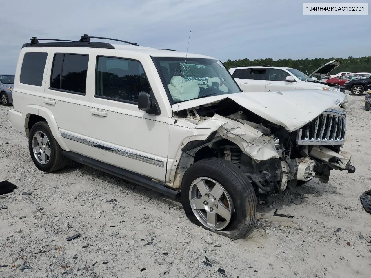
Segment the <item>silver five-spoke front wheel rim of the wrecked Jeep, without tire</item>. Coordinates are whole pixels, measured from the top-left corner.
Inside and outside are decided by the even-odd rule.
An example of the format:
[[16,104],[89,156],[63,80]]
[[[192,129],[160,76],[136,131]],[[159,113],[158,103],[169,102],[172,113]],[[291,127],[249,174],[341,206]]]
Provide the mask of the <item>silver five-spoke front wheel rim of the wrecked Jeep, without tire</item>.
[[220,183],[200,177],[192,183],[189,198],[192,211],[202,225],[212,230],[221,230],[229,224],[233,202]]

